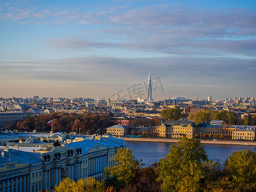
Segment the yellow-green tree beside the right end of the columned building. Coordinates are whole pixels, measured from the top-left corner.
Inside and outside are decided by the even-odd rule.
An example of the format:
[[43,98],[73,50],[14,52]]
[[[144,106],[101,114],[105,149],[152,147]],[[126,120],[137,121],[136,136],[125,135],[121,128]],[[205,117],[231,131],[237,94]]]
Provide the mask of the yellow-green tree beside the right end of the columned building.
[[140,163],[134,158],[132,150],[129,148],[120,148],[114,156],[115,166],[107,167],[105,174],[108,179],[114,177],[116,182],[114,187],[118,188],[134,178],[136,170],[140,167]]

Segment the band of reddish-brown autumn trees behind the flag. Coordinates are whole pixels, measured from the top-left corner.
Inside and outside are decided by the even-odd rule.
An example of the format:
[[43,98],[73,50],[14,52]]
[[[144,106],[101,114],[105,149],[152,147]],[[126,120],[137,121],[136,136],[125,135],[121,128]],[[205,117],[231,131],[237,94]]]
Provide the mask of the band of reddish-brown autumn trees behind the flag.
[[[106,132],[106,128],[114,125],[113,118],[106,114],[92,114],[92,115],[73,115],[73,114],[59,114],[52,113],[47,115],[30,115],[24,120],[19,121],[12,129],[17,127],[21,131],[37,131],[49,132],[51,131],[51,125],[47,125],[47,122],[52,120],[53,131],[79,131],[81,133],[94,134]],[[10,127],[12,127],[10,125]],[[100,131],[99,131],[100,130]]]

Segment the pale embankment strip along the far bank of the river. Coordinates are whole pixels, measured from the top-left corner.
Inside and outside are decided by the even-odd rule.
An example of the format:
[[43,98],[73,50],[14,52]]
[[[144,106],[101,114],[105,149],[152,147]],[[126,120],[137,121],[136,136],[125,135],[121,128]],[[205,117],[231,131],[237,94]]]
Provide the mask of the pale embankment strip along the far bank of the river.
[[[124,141],[140,141],[140,142],[158,142],[158,143],[177,143],[179,140],[167,138],[122,138]],[[213,140],[200,140],[202,144],[214,145],[250,145],[256,146],[256,141],[213,141]]]

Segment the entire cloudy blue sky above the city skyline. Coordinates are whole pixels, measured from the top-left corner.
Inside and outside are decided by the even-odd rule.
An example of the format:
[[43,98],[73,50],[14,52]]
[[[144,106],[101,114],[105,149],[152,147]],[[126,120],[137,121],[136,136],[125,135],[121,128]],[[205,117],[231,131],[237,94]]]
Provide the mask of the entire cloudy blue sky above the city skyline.
[[146,98],[149,72],[161,83],[153,99],[255,97],[255,8],[255,1],[0,1],[0,97]]

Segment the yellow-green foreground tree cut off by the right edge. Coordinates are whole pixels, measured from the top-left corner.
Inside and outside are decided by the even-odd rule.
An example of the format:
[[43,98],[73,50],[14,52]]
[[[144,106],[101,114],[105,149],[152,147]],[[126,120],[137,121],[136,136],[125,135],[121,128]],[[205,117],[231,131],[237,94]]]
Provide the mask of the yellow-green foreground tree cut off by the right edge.
[[232,152],[226,167],[235,188],[244,191],[246,187],[250,191],[256,191],[256,152],[250,149]]

